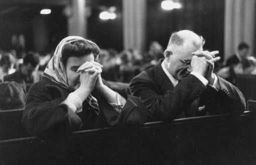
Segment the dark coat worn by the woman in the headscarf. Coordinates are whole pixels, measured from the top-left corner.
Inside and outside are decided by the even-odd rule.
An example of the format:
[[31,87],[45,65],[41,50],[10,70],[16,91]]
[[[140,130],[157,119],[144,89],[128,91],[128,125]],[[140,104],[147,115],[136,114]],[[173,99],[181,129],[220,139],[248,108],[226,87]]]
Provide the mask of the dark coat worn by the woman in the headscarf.
[[142,124],[147,120],[141,100],[125,94],[126,92],[120,92],[127,102],[118,113],[94,90],[92,95],[98,100],[99,115],[86,100],[83,102],[83,111],[79,113],[75,113],[68,105],[61,104],[71,92],[46,77],[35,83],[28,92],[23,113],[22,123],[27,130],[34,135],[53,135],[81,129]]

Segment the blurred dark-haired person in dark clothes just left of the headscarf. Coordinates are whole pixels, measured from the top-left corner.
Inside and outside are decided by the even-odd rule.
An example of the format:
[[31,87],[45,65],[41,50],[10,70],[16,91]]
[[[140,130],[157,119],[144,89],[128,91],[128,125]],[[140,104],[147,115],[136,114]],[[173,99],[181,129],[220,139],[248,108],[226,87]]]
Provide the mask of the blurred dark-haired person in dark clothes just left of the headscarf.
[[[4,77],[4,81],[15,81],[20,83],[26,89],[26,83],[34,83],[36,77],[35,72],[37,71],[39,65],[39,56],[36,54],[27,54],[20,68],[9,75]],[[38,78],[40,79],[40,78]]]

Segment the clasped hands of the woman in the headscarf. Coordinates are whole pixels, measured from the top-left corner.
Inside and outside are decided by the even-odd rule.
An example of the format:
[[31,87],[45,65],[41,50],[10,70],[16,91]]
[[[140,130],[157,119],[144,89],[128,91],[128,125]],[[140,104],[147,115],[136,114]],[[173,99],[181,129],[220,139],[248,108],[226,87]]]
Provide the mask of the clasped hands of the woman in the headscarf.
[[102,72],[102,65],[91,61],[82,64],[77,71],[80,71],[80,89],[91,92],[96,84],[98,75]]

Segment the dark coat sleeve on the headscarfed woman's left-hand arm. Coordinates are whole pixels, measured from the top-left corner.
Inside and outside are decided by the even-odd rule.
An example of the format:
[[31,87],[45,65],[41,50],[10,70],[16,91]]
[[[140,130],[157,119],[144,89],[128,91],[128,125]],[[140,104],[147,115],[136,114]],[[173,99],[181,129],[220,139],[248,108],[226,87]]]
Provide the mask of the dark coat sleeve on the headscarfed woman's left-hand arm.
[[66,134],[79,130],[81,118],[61,102],[68,96],[53,85],[34,84],[28,92],[22,123],[33,135]]

